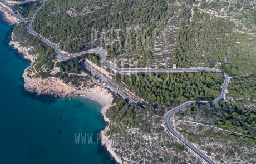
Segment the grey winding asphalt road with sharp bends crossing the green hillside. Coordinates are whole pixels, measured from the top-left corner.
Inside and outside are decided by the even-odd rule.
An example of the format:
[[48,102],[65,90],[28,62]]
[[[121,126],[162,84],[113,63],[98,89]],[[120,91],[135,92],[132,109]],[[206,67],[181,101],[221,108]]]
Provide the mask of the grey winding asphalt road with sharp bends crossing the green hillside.
[[[6,2],[6,0],[3,0],[4,2]],[[29,1],[26,1],[29,2]],[[22,3],[26,3],[26,2],[22,2]],[[7,3],[7,2],[6,2]],[[7,3],[8,4],[8,3]],[[21,3],[19,3],[21,4]],[[14,5],[14,4],[9,4],[9,5]],[[42,7],[42,6],[41,6]],[[57,52],[57,56],[56,58],[59,61],[66,61],[72,57],[77,57],[80,56],[82,54],[86,54],[86,53],[95,53],[95,54],[99,54],[99,56],[102,58],[102,61],[105,63],[105,65],[107,67],[109,67],[110,69],[114,70],[114,71],[119,71],[119,72],[166,72],[166,73],[174,73],[174,72],[199,72],[199,71],[210,71],[210,72],[215,72],[215,73],[221,73],[223,74],[223,78],[224,78],[224,83],[223,86],[220,89],[220,95],[218,98],[216,98],[216,100],[214,101],[189,101],[189,102],[185,102],[182,105],[175,107],[174,110],[171,110],[169,112],[167,112],[164,116],[164,122],[165,122],[165,126],[166,128],[168,128],[168,130],[176,137],[178,138],[178,140],[180,140],[181,142],[183,142],[186,146],[188,146],[192,151],[194,151],[198,156],[200,156],[205,162],[208,163],[215,163],[213,160],[211,160],[208,156],[206,156],[203,152],[201,152],[200,150],[198,150],[198,148],[196,148],[193,144],[191,144],[188,140],[185,140],[185,138],[183,138],[181,135],[179,135],[178,132],[176,132],[174,130],[174,128],[171,126],[171,118],[173,117],[173,115],[176,112],[181,111],[183,108],[189,106],[189,105],[193,105],[193,103],[197,103],[197,104],[203,104],[206,105],[206,103],[210,103],[211,105],[215,105],[218,101],[223,100],[224,99],[224,93],[225,90],[227,89],[228,83],[229,83],[229,79],[227,77],[227,75],[225,75],[225,73],[219,71],[218,69],[214,69],[214,68],[186,68],[186,69],[158,69],[158,68],[117,68],[115,66],[112,66],[106,59],[106,55],[107,52],[104,49],[100,49],[100,48],[94,48],[94,49],[90,49],[88,51],[82,51],[80,53],[75,53],[75,54],[66,54],[66,53],[62,53],[60,51],[60,49],[56,46],[56,44],[52,43],[51,41],[49,41],[47,38],[42,37],[40,34],[36,33],[35,31],[33,31],[32,27],[32,23],[34,21],[35,18],[35,14],[36,12],[38,12],[40,9],[38,8],[32,15],[31,21],[28,24],[28,31],[33,34],[36,37],[40,37],[40,39],[47,43],[49,46],[53,47],[55,49],[55,51]],[[88,66],[87,66],[88,67]],[[115,87],[114,87],[115,88]],[[118,91],[117,91],[118,92]]]

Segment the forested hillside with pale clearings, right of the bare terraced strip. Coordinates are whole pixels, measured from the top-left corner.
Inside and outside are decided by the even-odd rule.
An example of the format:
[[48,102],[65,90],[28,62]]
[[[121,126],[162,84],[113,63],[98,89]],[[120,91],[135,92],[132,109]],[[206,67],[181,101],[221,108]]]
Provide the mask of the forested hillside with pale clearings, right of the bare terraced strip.
[[190,26],[180,29],[173,62],[216,67],[229,76],[255,73],[255,1],[196,1],[193,11]]

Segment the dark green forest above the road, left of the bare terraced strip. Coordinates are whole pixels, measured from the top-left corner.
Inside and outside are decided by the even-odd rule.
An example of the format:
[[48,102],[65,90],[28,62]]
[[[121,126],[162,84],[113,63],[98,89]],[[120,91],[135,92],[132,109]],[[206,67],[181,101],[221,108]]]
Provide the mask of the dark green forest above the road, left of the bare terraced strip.
[[[175,11],[179,11],[180,21],[188,24],[191,16],[188,8],[160,0],[50,0],[36,14],[33,29],[70,53],[101,45],[110,57],[132,51],[139,64],[145,66],[146,59],[152,63],[154,39]],[[111,47],[109,42],[113,41]]]

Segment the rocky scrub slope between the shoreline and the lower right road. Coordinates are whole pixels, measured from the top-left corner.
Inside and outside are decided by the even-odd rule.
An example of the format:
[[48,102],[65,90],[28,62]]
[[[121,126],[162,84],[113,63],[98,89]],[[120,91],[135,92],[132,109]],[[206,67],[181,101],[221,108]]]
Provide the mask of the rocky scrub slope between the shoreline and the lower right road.
[[144,107],[116,98],[107,113],[110,130],[106,132],[121,161],[131,163],[200,163],[200,158],[165,130],[165,109],[152,103]]

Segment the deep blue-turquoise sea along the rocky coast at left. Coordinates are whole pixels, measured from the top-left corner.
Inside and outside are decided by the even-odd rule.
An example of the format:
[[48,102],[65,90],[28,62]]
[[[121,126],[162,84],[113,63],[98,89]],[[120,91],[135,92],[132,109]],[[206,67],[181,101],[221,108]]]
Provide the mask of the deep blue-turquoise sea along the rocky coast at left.
[[[0,16],[0,163],[115,163],[97,140],[99,104],[24,91],[29,62],[8,46],[13,28]],[[78,133],[92,134],[92,144],[76,144]]]

